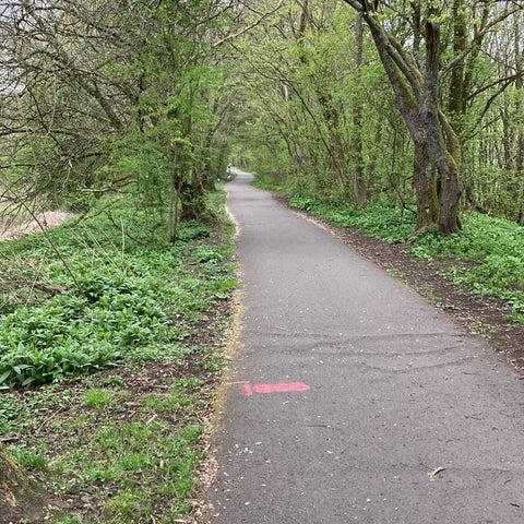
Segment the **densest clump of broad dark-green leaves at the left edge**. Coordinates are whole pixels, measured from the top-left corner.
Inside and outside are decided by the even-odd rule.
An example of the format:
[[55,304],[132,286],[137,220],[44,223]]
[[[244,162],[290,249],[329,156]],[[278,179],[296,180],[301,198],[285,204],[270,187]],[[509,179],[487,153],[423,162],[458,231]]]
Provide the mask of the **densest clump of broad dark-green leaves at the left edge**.
[[116,366],[121,350],[158,336],[166,317],[146,285],[91,272],[82,287],[20,308],[0,325],[0,384],[27,385]]

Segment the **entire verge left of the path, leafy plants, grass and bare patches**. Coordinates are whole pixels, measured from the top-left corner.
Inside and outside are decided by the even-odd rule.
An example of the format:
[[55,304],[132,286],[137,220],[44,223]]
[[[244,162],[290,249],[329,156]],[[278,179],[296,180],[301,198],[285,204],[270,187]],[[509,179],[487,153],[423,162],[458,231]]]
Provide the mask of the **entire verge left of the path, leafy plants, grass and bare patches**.
[[233,227],[222,214],[144,245],[140,227],[123,242],[110,224],[126,216],[53,229],[64,261],[41,235],[1,245],[60,289],[4,296],[0,317],[0,434],[47,485],[51,524],[189,522],[199,488],[237,287]]

